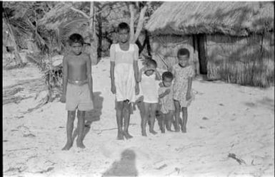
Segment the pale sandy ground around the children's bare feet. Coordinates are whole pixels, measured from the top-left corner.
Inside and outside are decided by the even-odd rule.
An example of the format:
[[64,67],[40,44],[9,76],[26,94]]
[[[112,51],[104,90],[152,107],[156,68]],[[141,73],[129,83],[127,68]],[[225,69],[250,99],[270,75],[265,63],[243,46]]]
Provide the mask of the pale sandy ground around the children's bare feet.
[[109,60],[92,73],[96,109],[86,116],[91,122],[86,149],[74,144],[61,151],[65,104],[56,100],[28,112],[44,89],[41,73],[31,65],[4,70],[4,91],[22,87],[16,94],[29,97],[3,105],[4,176],[274,176],[274,87],[196,78],[186,134],[161,134],[156,123],[158,134],[143,137],[134,111],[129,128],[134,138],[118,141]]

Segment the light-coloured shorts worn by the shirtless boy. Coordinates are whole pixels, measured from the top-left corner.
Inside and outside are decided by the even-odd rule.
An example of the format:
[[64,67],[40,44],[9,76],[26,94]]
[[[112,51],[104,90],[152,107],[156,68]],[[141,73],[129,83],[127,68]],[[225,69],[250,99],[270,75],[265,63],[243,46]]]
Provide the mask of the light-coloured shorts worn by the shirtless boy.
[[72,85],[68,83],[66,92],[66,110],[90,111],[94,103],[90,97],[89,85]]

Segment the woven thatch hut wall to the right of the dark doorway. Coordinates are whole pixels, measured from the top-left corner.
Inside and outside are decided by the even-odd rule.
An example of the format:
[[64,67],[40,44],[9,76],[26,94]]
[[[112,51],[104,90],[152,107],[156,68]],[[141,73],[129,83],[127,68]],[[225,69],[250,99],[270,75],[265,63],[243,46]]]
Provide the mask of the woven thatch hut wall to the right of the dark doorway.
[[206,36],[207,77],[240,85],[274,85],[274,33]]

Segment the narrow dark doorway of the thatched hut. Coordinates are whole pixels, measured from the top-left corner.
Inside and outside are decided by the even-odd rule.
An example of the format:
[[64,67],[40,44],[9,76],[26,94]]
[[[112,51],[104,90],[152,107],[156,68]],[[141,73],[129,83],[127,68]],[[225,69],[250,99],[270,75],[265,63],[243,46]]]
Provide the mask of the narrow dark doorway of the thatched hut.
[[199,72],[202,75],[207,74],[207,60],[206,60],[206,35],[199,34],[197,36],[198,43],[198,55],[199,55]]

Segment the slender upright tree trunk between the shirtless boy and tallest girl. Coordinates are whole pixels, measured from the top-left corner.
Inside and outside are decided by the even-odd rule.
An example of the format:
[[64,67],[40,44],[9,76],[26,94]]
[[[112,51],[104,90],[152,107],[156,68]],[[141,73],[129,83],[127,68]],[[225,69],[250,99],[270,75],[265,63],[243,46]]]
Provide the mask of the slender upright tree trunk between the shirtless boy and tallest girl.
[[94,13],[94,1],[91,1],[90,4],[90,23],[89,23],[89,31],[90,31],[90,57],[91,57],[91,65],[97,64],[97,51],[96,51],[96,30],[94,26],[94,19],[95,19],[95,13]]

